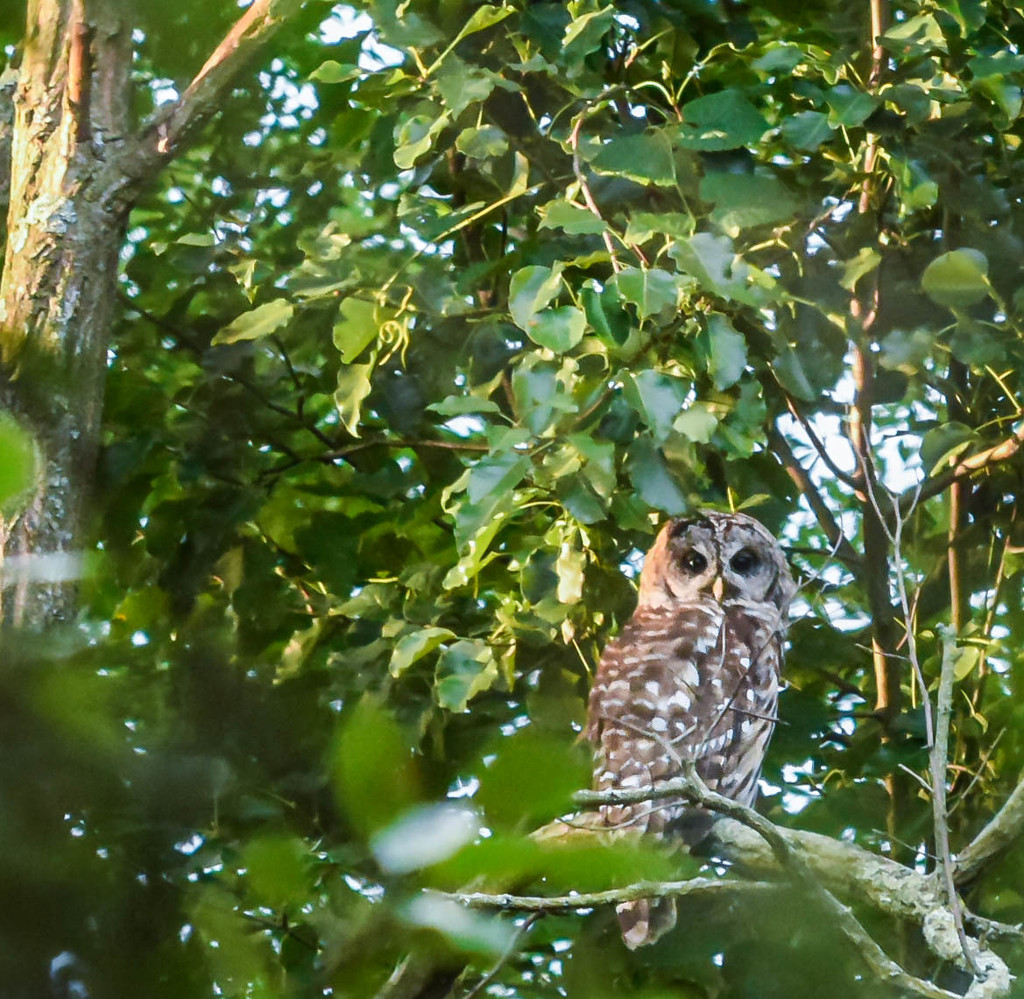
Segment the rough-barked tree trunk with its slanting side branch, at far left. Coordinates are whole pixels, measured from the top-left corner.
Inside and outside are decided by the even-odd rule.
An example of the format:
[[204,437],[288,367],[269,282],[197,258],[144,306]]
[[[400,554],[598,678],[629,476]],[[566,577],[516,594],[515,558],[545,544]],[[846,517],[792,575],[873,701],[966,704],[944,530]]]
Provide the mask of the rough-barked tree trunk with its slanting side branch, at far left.
[[136,125],[132,4],[29,0],[14,78],[0,78],[0,408],[36,435],[44,460],[29,509],[0,521],[6,624],[39,628],[74,613],[73,581],[53,577],[84,540],[119,252],[134,200],[301,3],[255,0],[181,98]]

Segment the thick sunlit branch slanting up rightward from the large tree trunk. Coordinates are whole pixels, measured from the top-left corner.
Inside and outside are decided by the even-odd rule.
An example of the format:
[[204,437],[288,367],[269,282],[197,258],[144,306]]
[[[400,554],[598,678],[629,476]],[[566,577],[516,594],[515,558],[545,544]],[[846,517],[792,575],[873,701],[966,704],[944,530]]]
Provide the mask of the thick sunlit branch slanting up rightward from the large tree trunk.
[[127,159],[132,179],[144,182],[180,151],[188,136],[220,110],[236,74],[302,6],[304,0],[254,0],[236,21],[203,69],[171,105],[143,130]]

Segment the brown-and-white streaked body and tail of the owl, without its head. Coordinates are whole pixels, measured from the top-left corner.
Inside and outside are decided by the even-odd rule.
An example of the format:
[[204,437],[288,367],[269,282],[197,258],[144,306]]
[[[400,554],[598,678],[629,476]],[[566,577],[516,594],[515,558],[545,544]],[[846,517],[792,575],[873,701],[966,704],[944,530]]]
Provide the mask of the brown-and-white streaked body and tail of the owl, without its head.
[[[598,789],[656,786],[693,761],[712,788],[743,803],[774,726],[780,663],[778,616],[740,602],[641,609],[601,657],[587,735]],[[604,807],[610,830],[693,844],[712,816],[681,798]],[[618,907],[626,943],[652,943],[675,922],[671,900]]]

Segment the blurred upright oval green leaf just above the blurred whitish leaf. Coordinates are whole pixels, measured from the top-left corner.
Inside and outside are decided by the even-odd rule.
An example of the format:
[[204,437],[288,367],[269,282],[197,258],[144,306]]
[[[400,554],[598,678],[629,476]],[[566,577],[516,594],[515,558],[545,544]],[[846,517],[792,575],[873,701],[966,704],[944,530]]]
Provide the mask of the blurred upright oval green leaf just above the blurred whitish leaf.
[[331,773],[338,805],[364,835],[389,825],[419,798],[409,743],[394,719],[370,698],[343,720]]

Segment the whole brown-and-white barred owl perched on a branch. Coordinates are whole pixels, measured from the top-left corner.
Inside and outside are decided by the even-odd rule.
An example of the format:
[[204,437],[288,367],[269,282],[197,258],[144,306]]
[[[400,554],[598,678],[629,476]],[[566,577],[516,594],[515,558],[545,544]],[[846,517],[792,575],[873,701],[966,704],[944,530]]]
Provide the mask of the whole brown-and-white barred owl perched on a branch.
[[[591,691],[595,787],[656,786],[692,761],[710,788],[752,805],[795,591],[778,542],[753,517],[706,512],[666,524],[647,553],[636,612],[604,650]],[[712,816],[669,799],[603,807],[600,821],[693,845]],[[672,899],[624,903],[617,914],[631,949],[676,922]]]

